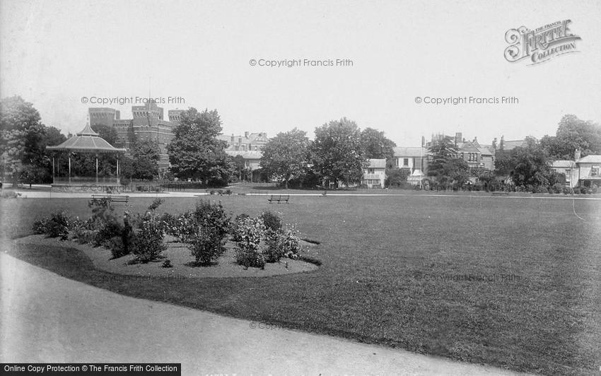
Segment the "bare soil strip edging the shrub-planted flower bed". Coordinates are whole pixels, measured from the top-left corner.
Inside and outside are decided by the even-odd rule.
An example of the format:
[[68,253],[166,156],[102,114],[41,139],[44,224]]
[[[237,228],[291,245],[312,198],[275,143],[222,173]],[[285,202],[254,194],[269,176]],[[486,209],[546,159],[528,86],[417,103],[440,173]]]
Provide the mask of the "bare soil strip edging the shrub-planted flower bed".
[[[211,266],[194,266],[194,257],[182,243],[167,242],[168,249],[164,256],[156,262],[148,264],[131,264],[134,256],[128,254],[119,259],[112,259],[110,249],[79,244],[70,240],[59,240],[45,235],[29,235],[15,240],[18,244],[47,245],[52,247],[74,248],[88,256],[96,269],[114,274],[128,276],[149,276],[162,278],[236,278],[236,277],[269,277],[288,274],[306,273],[317,270],[318,266],[310,262],[293,259],[281,259],[280,262],[265,264],[265,269],[247,268],[235,263],[233,246],[226,245],[226,252],[218,262]],[[303,246],[314,247],[307,242]],[[173,267],[163,268],[163,262],[169,259]]]

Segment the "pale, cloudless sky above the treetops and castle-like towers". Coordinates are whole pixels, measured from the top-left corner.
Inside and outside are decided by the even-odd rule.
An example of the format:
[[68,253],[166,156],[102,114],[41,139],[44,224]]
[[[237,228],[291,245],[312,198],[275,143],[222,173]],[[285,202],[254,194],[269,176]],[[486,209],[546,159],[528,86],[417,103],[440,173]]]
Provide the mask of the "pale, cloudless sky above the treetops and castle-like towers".
[[[150,93],[165,114],[218,110],[224,134],[313,137],[347,117],[398,146],[437,133],[539,138],[564,114],[601,122],[600,15],[601,1],[565,0],[0,0],[0,97],[21,95],[65,134],[83,128],[88,107],[127,119],[140,104],[91,100]],[[508,30],[563,20],[581,38],[576,52],[535,65],[504,57]],[[468,102],[431,103],[449,97]]]

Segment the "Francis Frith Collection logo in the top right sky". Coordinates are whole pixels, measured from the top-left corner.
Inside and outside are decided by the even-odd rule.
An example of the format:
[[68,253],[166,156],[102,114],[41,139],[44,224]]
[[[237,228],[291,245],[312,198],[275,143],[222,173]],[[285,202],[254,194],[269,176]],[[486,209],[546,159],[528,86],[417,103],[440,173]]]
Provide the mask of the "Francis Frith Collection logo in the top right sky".
[[535,30],[525,26],[510,29],[505,33],[505,40],[510,44],[505,49],[505,59],[510,62],[530,59],[531,64],[540,64],[570,52],[578,52],[576,41],[578,35],[571,33],[568,25],[571,20],[563,20],[544,25]]

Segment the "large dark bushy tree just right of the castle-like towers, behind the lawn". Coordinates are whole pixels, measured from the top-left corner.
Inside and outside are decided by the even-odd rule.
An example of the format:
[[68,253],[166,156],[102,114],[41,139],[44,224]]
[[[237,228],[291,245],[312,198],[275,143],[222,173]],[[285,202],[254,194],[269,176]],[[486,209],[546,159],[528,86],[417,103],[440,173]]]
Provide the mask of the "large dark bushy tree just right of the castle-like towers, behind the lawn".
[[167,148],[171,172],[180,179],[226,184],[233,166],[225,152],[226,142],[217,139],[221,129],[217,110],[198,112],[192,107],[184,112]]

